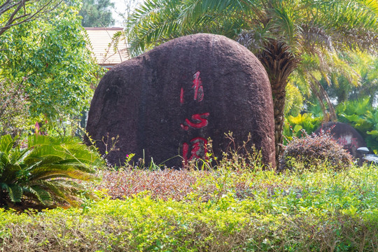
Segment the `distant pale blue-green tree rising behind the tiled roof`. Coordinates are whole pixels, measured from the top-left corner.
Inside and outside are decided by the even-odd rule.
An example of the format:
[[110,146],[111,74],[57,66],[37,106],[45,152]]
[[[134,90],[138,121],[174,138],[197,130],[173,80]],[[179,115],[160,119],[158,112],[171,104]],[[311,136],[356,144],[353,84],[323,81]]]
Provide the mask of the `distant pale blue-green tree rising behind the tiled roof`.
[[110,27],[114,25],[111,9],[114,3],[110,0],[83,0],[79,15],[83,17],[83,27]]

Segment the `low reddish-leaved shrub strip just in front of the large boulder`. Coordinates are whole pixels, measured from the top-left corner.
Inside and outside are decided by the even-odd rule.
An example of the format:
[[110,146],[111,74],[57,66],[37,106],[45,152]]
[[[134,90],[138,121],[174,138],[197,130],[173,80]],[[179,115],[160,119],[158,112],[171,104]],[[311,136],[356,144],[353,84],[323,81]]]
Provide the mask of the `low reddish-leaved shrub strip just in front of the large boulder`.
[[[290,185],[272,181],[255,183],[254,172],[248,169],[223,171],[196,171],[165,169],[158,171],[132,170],[104,171],[102,182],[95,186],[97,190],[106,190],[112,199],[122,200],[124,197],[134,197],[138,193],[147,192],[153,199],[160,200],[192,200],[193,197],[207,202],[227,193],[235,193],[239,199],[253,197],[258,188],[271,191],[274,187],[287,188]],[[189,196],[189,197],[188,197]]]

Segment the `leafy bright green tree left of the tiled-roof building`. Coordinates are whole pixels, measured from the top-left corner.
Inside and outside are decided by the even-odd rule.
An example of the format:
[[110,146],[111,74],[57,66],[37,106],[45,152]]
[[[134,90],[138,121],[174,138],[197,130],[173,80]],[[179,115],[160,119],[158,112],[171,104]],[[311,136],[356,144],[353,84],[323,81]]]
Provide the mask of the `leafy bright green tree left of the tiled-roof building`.
[[[91,87],[102,74],[86,48],[78,6],[61,3],[50,15],[0,36],[0,82],[27,100],[25,109],[34,123],[78,116],[89,107]],[[0,100],[5,98],[1,93]],[[0,123],[0,132],[4,127]]]

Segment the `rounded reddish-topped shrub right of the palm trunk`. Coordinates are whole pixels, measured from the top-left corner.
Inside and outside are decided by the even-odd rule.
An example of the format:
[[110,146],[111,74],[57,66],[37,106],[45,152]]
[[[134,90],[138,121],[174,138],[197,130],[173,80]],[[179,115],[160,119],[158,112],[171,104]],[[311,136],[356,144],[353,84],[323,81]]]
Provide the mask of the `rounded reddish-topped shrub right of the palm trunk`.
[[332,139],[328,132],[293,138],[283,151],[279,170],[317,168],[326,165],[332,169],[344,169],[352,165],[351,155]]

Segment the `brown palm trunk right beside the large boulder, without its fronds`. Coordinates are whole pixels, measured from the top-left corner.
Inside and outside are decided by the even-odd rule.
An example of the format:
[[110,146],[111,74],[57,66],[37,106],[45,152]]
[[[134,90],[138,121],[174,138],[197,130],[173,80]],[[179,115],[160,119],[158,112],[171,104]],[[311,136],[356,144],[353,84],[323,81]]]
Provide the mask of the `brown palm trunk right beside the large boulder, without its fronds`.
[[290,52],[290,48],[283,42],[270,40],[265,44],[264,50],[256,55],[269,76],[272,86],[274,106],[274,139],[276,146],[276,166],[283,151],[283,111],[285,109],[286,85],[288,76],[293,72],[299,60]]

